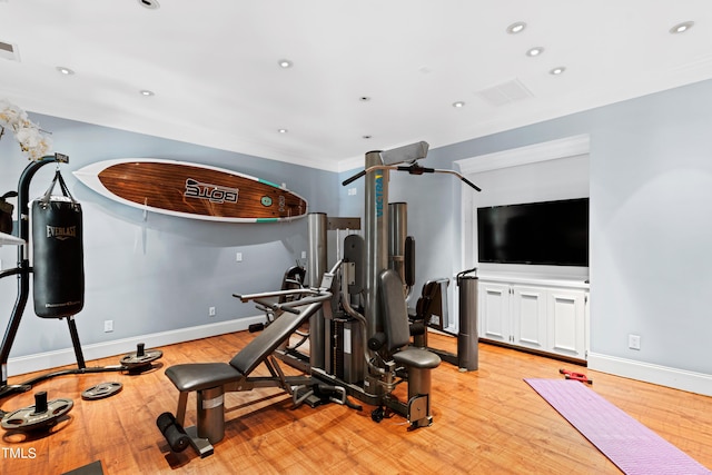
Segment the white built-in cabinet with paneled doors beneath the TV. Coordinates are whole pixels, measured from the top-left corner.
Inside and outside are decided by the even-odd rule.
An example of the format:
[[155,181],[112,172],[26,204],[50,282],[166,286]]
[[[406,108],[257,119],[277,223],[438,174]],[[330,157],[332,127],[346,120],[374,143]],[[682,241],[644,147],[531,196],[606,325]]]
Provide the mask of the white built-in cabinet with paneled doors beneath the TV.
[[589,284],[583,280],[481,275],[482,342],[585,362]]

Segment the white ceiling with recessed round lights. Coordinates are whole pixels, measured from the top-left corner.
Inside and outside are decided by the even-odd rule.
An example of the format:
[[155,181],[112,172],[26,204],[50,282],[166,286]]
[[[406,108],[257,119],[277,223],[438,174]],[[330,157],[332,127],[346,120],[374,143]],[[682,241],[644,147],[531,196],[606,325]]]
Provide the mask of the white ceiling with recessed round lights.
[[[710,0],[150,1],[0,0],[0,98],[343,170],[712,78]],[[525,97],[492,103],[503,85]]]

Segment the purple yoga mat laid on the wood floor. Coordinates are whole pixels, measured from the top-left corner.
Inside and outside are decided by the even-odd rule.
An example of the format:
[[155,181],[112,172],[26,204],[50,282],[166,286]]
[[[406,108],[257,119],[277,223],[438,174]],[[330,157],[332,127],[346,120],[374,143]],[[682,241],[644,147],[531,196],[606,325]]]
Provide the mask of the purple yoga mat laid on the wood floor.
[[712,473],[580,382],[524,380],[629,475]]

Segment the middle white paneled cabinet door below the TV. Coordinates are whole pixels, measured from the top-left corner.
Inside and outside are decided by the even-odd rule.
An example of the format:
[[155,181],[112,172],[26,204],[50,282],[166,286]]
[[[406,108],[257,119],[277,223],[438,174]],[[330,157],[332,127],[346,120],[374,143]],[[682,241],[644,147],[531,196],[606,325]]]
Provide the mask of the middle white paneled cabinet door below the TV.
[[546,350],[546,289],[517,285],[512,289],[512,343],[532,349]]

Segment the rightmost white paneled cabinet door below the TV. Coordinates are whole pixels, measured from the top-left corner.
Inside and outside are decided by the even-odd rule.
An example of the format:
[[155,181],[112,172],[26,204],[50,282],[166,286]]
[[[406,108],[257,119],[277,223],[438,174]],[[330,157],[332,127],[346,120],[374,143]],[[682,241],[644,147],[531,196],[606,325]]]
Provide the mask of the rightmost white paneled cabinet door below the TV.
[[548,290],[548,350],[585,358],[585,291]]

